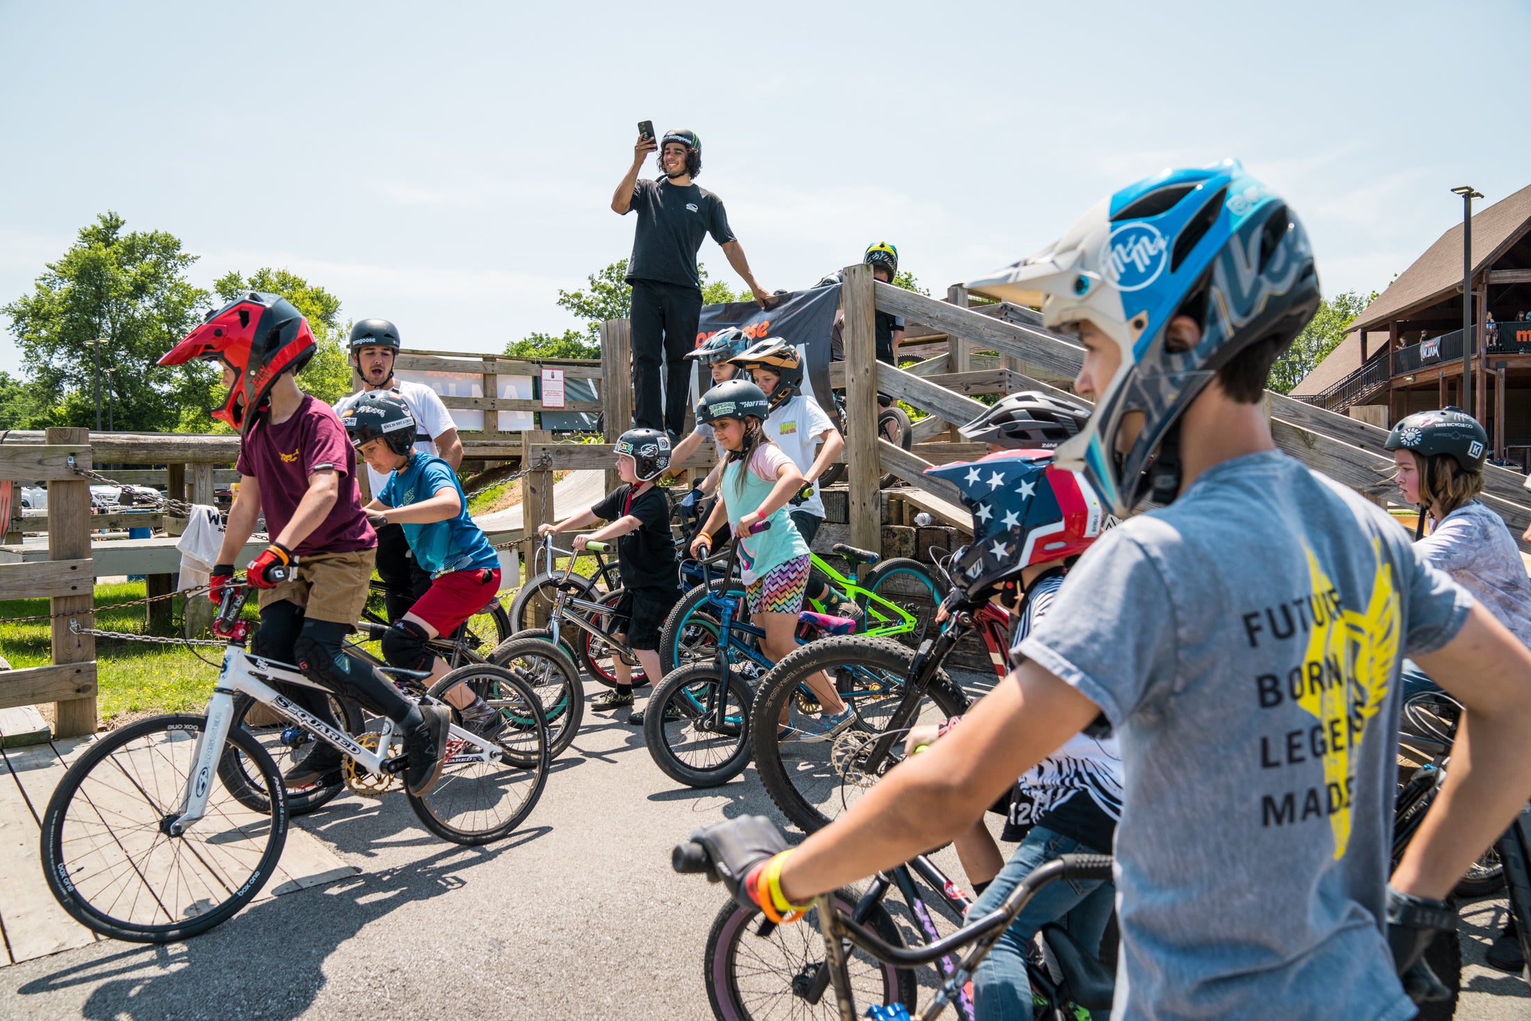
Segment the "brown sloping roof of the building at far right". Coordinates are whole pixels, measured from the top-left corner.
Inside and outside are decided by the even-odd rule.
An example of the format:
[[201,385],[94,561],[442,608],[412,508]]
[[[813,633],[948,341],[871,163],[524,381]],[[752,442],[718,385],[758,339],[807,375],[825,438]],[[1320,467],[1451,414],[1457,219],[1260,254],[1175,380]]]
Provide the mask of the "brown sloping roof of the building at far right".
[[[1513,245],[1531,227],[1531,185],[1473,214],[1473,272]],[[1386,326],[1399,312],[1427,308],[1451,297],[1462,288],[1462,223],[1436,239],[1413,265],[1398,274],[1376,300],[1366,306],[1352,331]],[[1349,340],[1346,341],[1349,343]],[[1338,351],[1335,351],[1338,354]],[[1360,366],[1360,346],[1347,363]],[[1330,355],[1332,357],[1332,355]],[[1318,372],[1317,369],[1314,370]],[[1312,373],[1311,373],[1312,375]],[[1338,378],[1335,380],[1338,381]],[[1307,380],[1303,380],[1306,384]],[[1297,392],[1295,389],[1292,390]]]

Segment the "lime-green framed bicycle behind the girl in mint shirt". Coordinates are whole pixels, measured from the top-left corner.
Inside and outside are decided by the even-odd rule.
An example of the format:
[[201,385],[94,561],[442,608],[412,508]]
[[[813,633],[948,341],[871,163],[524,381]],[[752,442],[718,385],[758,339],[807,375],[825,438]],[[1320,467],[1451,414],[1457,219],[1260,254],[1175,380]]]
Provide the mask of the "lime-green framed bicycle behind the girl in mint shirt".
[[[847,577],[825,563],[819,554],[810,551],[810,565],[830,585],[830,600],[808,600],[813,611],[837,615],[836,603],[854,603],[862,615],[862,621],[859,621],[862,634],[897,638],[911,649],[919,646],[946,595],[945,579],[909,557],[883,560],[870,550],[857,550],[844,542],[834,543],[831,551],[851,565],[870,565],[871,569],[867,572],[865,582],[857,582],[854,571]],[[697,582],[704,574],[695,562],[681,562],[681,579]],[[732,591],[743,594],[743,588],[738,588],[736,582],[732,583]],[[660,669],[666,675],[687,660],[712,655],[717,632],[717,599],[718,586],[715,582],[694,585],[664,618],[664,629],[660,632]]]

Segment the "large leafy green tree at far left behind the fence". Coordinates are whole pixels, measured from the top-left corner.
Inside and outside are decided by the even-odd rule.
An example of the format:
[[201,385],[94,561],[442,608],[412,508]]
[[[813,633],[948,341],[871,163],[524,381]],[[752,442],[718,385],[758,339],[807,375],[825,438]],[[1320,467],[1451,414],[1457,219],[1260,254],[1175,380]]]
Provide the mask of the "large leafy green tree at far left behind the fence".
[[[197,320],[207,291],[185,271],[196,262],[165,231],[124,231],[107,211],[80,230],[24,294],[5,306],[24,355],[32,424],[95,427],[90,343],[103,338],[101,407],[119,430],[165,432],[181,407],[205,404],[210,366],[156,361]],[[9,400],[5,401],[11,404]],[[103,424],[106,416],[103,415]]]

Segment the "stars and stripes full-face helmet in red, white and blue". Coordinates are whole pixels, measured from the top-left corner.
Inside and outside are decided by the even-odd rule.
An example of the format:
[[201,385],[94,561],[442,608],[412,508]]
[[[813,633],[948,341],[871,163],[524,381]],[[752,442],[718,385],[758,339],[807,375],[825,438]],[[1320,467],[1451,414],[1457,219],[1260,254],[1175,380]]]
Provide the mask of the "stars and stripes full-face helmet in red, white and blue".
[[1079,556],[1116,524],[1084,473],[1056,467],[1050,450],[1001,450],[925,475],[955,485],[972,511],[972,542],[952,554],[949,569],[974,602],[1024,568]]

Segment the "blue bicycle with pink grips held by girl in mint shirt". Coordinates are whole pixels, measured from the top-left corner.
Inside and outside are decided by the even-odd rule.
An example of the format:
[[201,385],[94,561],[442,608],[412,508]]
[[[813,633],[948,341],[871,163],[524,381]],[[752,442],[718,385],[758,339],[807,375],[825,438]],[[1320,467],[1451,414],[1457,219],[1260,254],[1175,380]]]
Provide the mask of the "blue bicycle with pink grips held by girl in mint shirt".
[[[770,522],[761,522],[755,531],[769,527]],[[723,579],[732,579],[738,545],[738,537],[730,539],[721,553],[703,559],[701,568],[727,562]],[[726,784],[750,761],[749,710],[753,692],[743,667],[747,664],[764,674],[772,669],[772,661],[758,648],[766,631],[738,618],[743,606],[743,591],[718,597],[712,658],[695,660],[666,674],[649,696],[643,715],[643,739],[649,756],[666,776],[687,787]],[[798,620],[799,641],[811,641],[827,631],[853,626],[850,620],[813,612],[802,612]],[[804,690],[813,698],[811,690]],[[860,695],[865,692],[841,692],[847,701]]]

